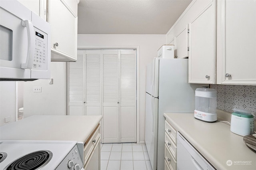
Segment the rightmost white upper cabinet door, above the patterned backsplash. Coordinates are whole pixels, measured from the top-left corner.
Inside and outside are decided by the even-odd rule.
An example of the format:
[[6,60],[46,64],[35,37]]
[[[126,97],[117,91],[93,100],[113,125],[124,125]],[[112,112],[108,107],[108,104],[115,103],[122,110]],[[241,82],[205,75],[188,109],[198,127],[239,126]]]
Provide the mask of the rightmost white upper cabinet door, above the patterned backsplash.
[[255,28],[255,0],[220,1],[217,32],[218,84],[256,85]]

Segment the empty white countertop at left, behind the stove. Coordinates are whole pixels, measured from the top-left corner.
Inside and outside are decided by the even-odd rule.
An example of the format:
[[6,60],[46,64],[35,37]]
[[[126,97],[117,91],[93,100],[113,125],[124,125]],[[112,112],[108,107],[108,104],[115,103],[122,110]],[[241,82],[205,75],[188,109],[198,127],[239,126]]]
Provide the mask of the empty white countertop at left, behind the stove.
[[75,140],[86,142],[102,116],[33,115],[0,127],[0,140]]

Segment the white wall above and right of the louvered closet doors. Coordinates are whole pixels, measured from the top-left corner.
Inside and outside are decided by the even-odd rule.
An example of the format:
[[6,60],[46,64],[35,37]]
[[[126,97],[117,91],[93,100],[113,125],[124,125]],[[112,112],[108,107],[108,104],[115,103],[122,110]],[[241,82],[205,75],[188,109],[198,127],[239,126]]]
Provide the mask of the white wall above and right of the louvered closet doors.
[[78,47],[139,47],[139,138],[137,142],[143,143],[145,134],[145,86],[146,64],[157,57],[157,50],[165,44],[166,35],[130,35],[130,34],[78,34]]

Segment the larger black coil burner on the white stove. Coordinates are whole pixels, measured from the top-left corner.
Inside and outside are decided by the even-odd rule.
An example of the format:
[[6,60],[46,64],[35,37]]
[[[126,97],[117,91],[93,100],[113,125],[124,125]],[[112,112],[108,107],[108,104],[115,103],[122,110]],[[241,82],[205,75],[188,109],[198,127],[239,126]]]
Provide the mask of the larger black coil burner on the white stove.
[[10,163],[5,170],[40,170],[52,158],[49,150],[39,150],[26,154]]

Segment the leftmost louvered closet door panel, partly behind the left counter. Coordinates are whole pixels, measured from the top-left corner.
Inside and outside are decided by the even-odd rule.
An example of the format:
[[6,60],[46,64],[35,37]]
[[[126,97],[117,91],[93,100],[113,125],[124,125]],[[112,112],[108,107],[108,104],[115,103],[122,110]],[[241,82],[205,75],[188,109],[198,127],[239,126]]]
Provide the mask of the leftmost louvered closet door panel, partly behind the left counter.
[[68,114],[84,115],[84,51],[78,50],[77,61],[68,62]]

